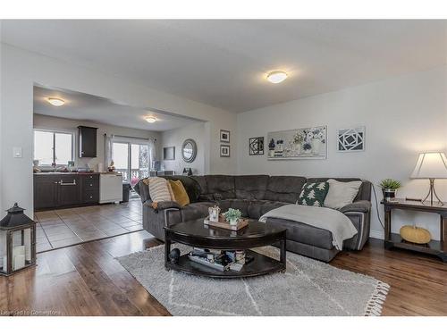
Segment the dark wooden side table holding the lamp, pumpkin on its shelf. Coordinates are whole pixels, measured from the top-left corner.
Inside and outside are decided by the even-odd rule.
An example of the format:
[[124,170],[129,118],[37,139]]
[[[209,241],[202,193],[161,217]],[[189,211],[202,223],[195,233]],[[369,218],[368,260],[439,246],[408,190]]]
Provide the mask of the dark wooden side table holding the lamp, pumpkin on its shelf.
[[[419,201],[409,201],[396,199],[396,201],[382,201],[385,211],[385,236],[384,247],[400,247],[402,249],[413,250],[424,254],[437,255],[443,262],[447,262],[447,204],[445,205],[424,205]],[[429,212],[439,214],[441,237],[439,241],[431,240],[427,244],[416,244],[404,241],[401,235],[392,233],[392,210],[401,209],[404,211]]]

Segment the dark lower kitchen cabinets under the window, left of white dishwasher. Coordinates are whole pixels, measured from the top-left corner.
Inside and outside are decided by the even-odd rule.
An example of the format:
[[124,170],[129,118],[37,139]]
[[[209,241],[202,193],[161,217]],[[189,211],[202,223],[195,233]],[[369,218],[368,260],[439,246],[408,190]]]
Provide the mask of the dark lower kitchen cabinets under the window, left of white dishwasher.
[[35,209],[95,205],[98,202],[98,173],[34,174]]

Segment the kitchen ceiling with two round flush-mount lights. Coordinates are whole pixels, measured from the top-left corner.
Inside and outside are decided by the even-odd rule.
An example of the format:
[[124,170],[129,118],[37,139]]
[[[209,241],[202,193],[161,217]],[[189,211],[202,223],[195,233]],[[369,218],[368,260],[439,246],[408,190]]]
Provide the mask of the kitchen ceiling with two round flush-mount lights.
[[[46,100],[48,97],[61,98],[65,105],[50,105]],[[34,87],[34,113],[153,131],[173,130],[197,122],[181,116],[118,105],[99,96],[37,86]],[[145,121],[145,116],[149,115],[155,116],[157,121]]]

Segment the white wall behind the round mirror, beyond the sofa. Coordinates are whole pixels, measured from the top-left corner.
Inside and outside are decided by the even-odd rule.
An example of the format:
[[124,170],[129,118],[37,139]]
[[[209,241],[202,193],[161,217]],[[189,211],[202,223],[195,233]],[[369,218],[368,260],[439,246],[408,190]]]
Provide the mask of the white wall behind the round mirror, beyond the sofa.
[[[198,153],[192,163],[185,163],[181,156],[181,145],[187,138],[196,141]],[[175,160],[163,161],[163,148],[175,147]],[[183,172],[183,168],[191,168],[195,175],[205,173],[205,123],[198,122],[190,126],[167,130],[161,133],[160,158],[164,165],[164,170],[173,170],[177,174]]]

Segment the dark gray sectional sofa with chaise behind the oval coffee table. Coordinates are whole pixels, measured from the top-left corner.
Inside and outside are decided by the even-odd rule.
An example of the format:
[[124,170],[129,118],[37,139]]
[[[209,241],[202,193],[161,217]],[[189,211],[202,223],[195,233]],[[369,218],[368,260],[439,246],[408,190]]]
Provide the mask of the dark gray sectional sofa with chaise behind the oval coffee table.
[[[157,239],[164,240],[164,225],[204,218],[208,207],[219,205],[222,211],[228,208],[240,209],[242,215],[259,219],[266,212],[282,205],[295,204],[306,181],[325,181],[328,178],[305,178],[297,176],[268,175],[206,175],[206,176],[165,176],[166,179],[181,180],[190,197],[190,205],[180,207],[166,201],[151,206],[148,186],[139,181],[135,190],[143,203],[143,227]],[[340,179],[352,181],[359,179]],[[354,202],[341,209],[358,230],[352,239],[344,241],[343,248],[361,250],[369,237],[371,211],[371,183],[362,180]],[[312,227],[305,222],[291,222],[283,219],[268,219],[287,230],[286,247],[289,251],[329,262],[337,255],[333,247],[332,234],[328,230]]]

